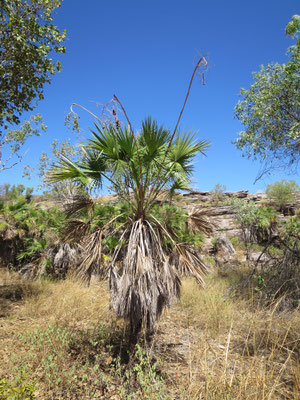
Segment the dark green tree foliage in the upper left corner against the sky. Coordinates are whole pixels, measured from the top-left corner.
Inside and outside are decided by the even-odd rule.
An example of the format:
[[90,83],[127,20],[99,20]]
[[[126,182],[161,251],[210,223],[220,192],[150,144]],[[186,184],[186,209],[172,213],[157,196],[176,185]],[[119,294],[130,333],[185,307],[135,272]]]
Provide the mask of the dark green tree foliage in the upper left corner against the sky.
[[59,0],[2,0],[0,5],[0,127],[43,99],[44,84],[60,70],[51,53],[64,53],[65,31],[52,23]]

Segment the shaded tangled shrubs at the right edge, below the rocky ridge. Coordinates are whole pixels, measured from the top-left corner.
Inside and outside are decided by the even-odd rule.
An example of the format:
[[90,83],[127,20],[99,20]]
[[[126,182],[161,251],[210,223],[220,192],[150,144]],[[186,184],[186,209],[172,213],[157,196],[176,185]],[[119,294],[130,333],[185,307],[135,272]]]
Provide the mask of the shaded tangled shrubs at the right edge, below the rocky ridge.
[[[245,250],[248,273],[233,286],[235,292],[256,293],[267,305],[278,300],[278,309],[293,309],[300,301],[300,219],[279,220],[275,210],[233,199],[227,202],[236,211],[241,240],[231,238],[236,248]],[[256,260],[251,252],[258,251]],[[252,296],[252,294],[251,294]]]

